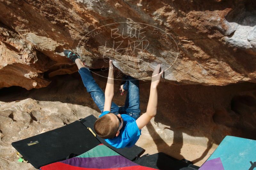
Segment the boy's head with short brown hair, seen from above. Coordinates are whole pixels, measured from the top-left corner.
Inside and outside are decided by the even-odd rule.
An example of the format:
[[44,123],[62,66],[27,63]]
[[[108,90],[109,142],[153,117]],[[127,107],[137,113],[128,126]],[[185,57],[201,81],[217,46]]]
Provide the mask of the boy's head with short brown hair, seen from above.
[[119,135],[123,122],[120,114],[108,113],[96,120],[94,130],[103,139],[114,138]]

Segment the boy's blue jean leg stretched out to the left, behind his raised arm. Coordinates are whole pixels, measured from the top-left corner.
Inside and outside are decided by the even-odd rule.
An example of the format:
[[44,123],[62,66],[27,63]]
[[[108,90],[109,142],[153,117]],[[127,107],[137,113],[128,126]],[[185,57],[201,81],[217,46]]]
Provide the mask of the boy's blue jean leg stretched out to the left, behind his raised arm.
[[[105,103],[104,92],[93,79],[92,74],[88,68],[82,67],[78,70],[78,73],[81,75],[84,87],[86,88],[87,92],[91,94],[94,103],[98,106],[102,113]],[[112,102],[111,110],[109,111],[111,111],[112,113],[116,113],[119,110],[122,110],[122,108],[117,106],[116,103]]]

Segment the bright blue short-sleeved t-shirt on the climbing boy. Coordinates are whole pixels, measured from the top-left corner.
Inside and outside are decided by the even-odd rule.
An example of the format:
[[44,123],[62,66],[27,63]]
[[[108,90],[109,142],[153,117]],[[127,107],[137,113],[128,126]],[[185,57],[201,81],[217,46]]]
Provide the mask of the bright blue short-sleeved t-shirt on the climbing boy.
[[[108,114],[110,111],[103,111],[99,117]],[[128,115],[122,114],[124,120],[123,127],[117,137],[112,139],[105,139],[109,145],[116,148],[132,147],[140,138],[141,130],[139,130],[136,120]]]

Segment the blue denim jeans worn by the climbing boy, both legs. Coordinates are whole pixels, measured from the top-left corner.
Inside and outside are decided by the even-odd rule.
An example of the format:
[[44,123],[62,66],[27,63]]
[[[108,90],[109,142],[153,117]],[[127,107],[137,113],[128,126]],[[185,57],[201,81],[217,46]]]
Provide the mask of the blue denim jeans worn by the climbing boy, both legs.
[[[94,103],[96,103],[102,113],[105,103],[104,92],[93,79],[88,68],[82,67],[78,70],[78,73],[82,77],[84,87],[86,88],[87,92],[91,94]],[[124,83],[123,89],[127,91],[124,106],[119,107],[116,105],[116,103],[112,102],[111,110],[109,111],[114,114],[126,114],[138,119],[140,117],[139,81],[131,76],[128,76],[126,82]]]

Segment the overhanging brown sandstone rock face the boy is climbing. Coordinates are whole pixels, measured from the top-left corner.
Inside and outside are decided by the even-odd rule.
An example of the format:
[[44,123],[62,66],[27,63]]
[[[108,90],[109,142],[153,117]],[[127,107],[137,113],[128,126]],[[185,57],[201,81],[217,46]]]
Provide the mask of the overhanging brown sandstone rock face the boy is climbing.
[[252,0],[1,0],[0,7],[0,87],[40,88],[49,76],[73,73],[63,49],[93,68],[113,58],[141,80],[162,63],[164,78],[176,83],[255,82]]

